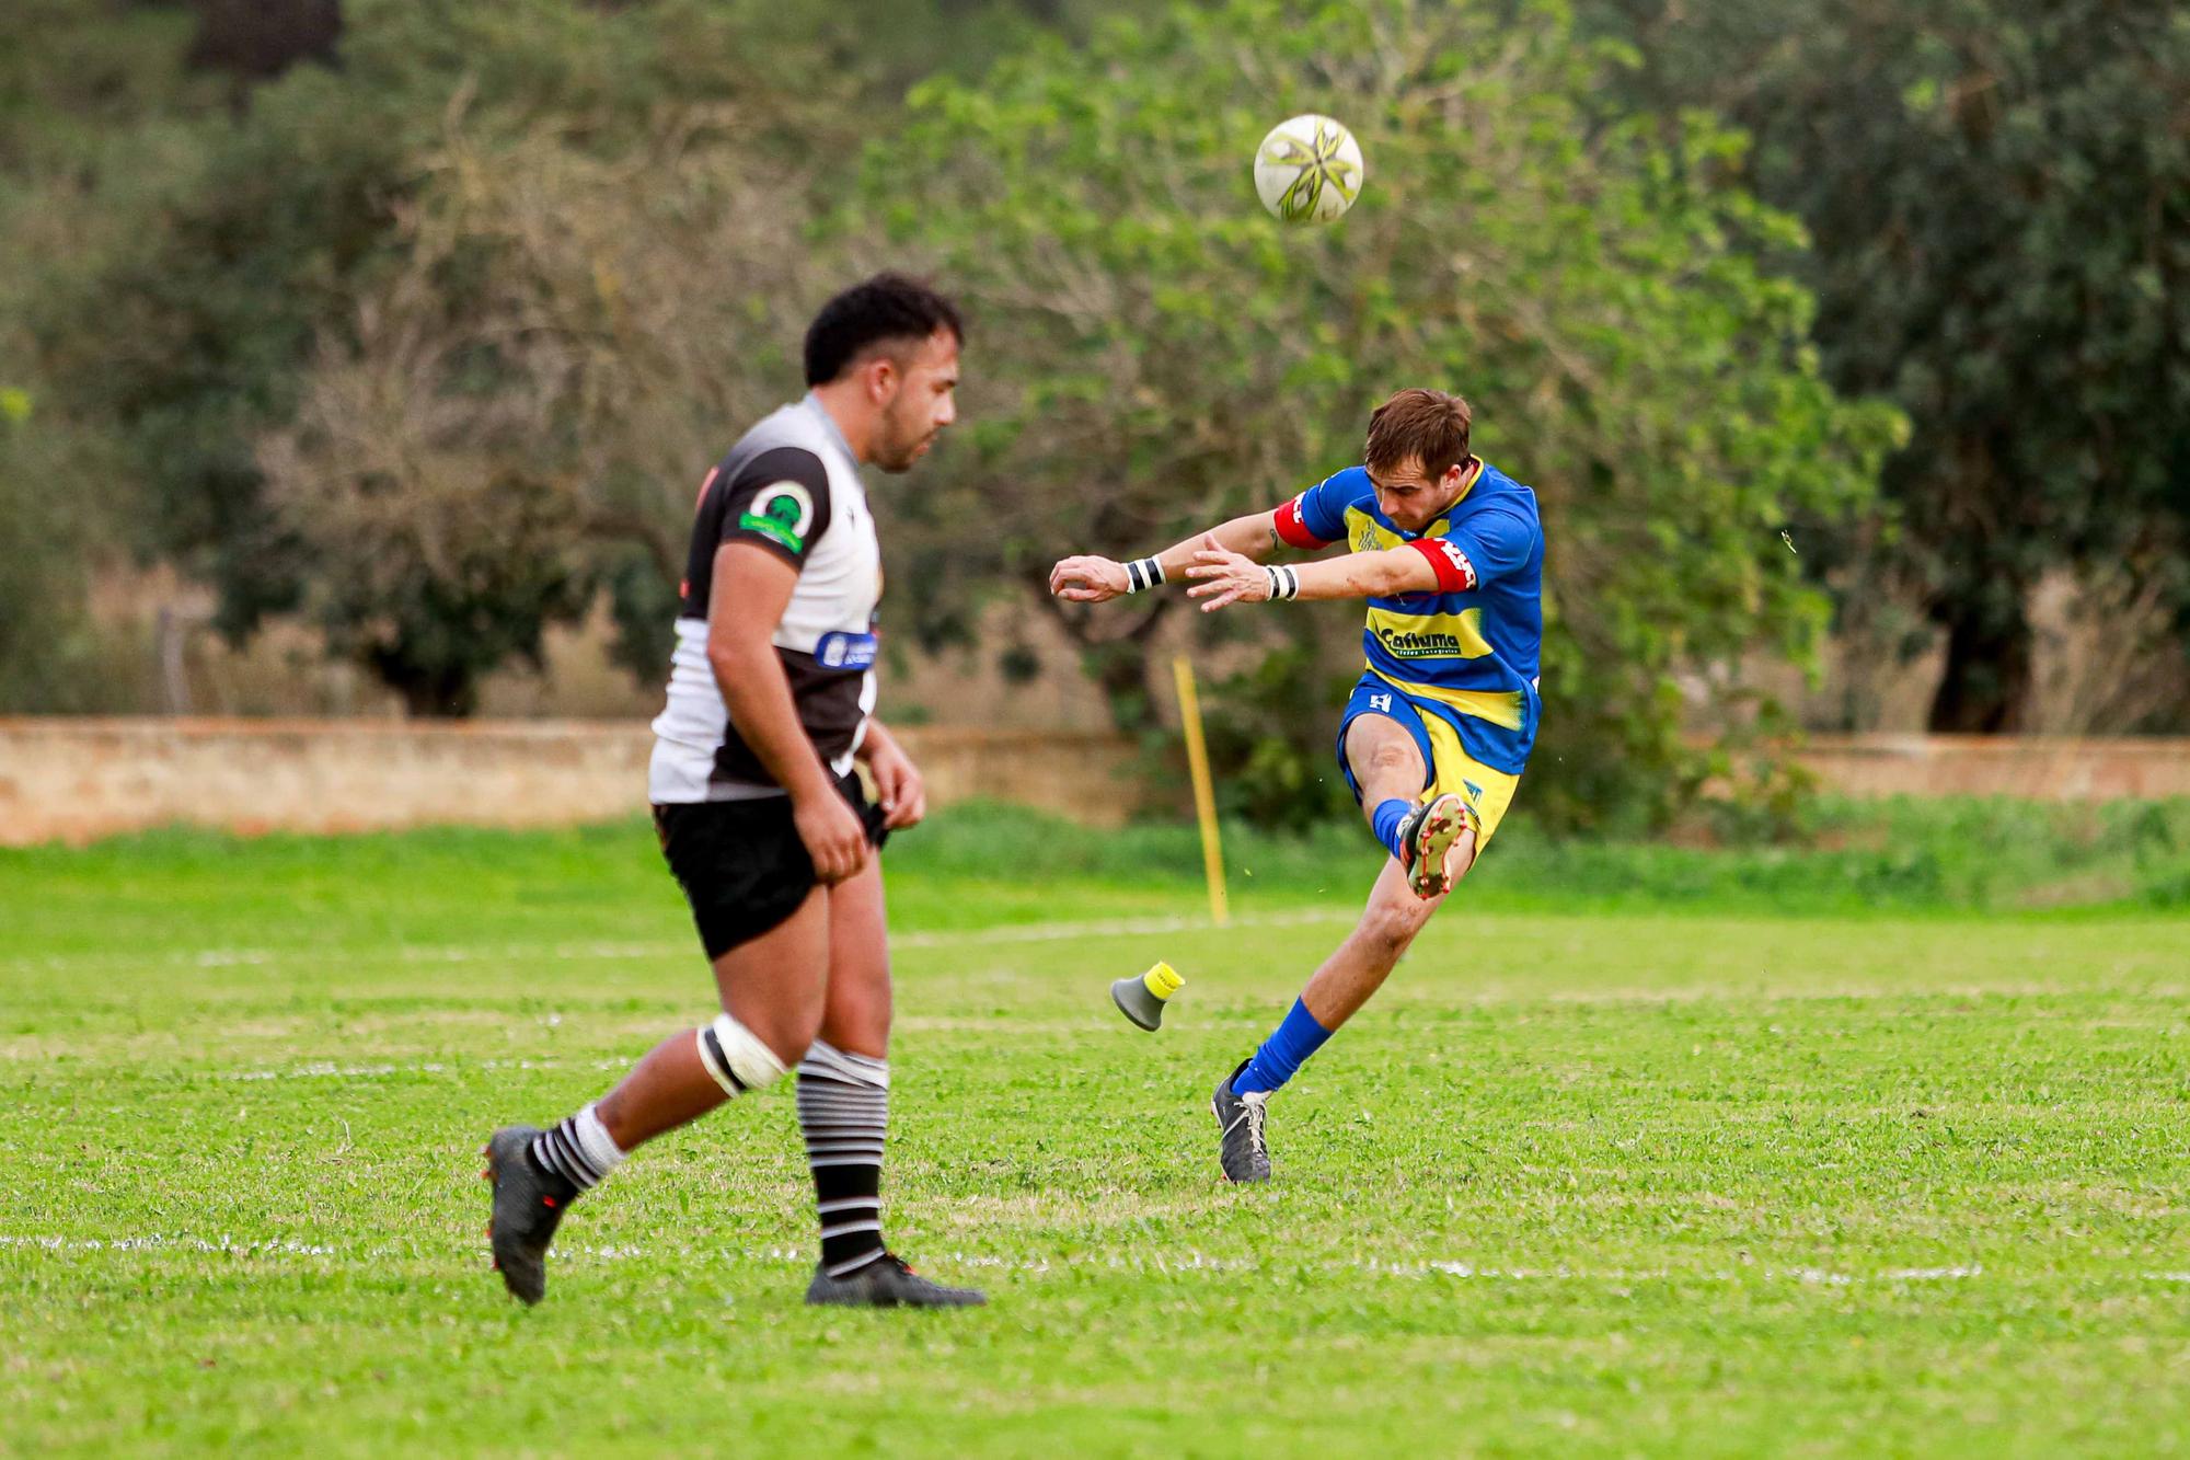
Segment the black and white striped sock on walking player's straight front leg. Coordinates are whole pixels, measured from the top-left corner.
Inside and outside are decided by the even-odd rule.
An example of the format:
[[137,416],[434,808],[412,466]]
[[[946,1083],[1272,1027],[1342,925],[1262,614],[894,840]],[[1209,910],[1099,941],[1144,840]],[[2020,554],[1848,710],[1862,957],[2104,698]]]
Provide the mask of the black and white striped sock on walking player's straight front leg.
[[799,1129],[821,1212],[821,1271],[854,1274],[883,1256],[883,1129],[889,1061],[815,1039],[799,1061]]

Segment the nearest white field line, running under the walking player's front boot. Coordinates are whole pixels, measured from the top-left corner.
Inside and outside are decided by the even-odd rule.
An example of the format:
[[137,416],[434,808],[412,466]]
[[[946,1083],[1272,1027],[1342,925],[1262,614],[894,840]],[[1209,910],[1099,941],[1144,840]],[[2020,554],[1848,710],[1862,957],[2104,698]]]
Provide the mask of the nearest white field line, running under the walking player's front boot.
[[[88,1254],[88,1252],[219,1252],[230,1256],[252,1256],[252,1258],[298,1258],[298,1256],[344,1256],[339,1247],[326,1243],[304,1243],[304,1241],[234,1241],[232,1236],[177,1236],[151,1232],[145,1236],[7,1236],[0,1234],[0,1250],[20,1252],[44,1252],[44,1254]],[[353,1261],[385,1261],[385,1258],[420,1258],[429,1256],[416,1247],[394,1247],[377,1245],[361,1250]],[[727,1261],[727,1263],[749,1263],[764,1267],[808,1267],[815,1254],[802,1247],[646,1247],[639,1243],[624,1245],[587,1245],[574,1243],[554,1247],[552,1256],[563,1263],[626,1263],[648,1256],[679,1256],[694,1261]],[[1204,1252],[1176,1252],[1176,1254],[1073,1254],[1060,1258],[999,1258],[975,1252],[944,1252],[937,1261],[948,1267],[972,1267],[990,1271],[1021,1271],[1021,1274],[1049,1274],[1049,1271],[1139,1271],[1139,1274],[1259,1274],[1261,1263],[1253,1258],[1215,1258]],[[1281,1263],[1286,1271],[1296,1271],[1296,1263]],[[1741,1282],[1741,1280],[1765,1280],[1765,1282],[1796,1282],[1800,1287],[1859,1287],[1877,1282],[1971,1282],[1984,1276],[2008,1278],[2015,1274],[1993,1271],[1986,1274],[1982,1263],[1951,1265],[1951,1267],[1883,1267],[1879,1271],[1835,1271],[1826,1267],[1717,1267],[1717,1269],[1680,1269],[1680,1267],[1570,1267],[1559,1263],[1555,1267],[1529,1267],[1529,1265],[1498,1265],[1498,1263],[1463,1263],[1463,1261],[1421,1261],[1421,1263],[1393,1263],[1384,1258],[1358,1258],[1351,1263],[1314,1263],[1314,1271],[1325,1271],[1334,1276],[1342,1274],[1367,1274],[1373,1278],[1459,1278],[1465,1282]],[[2140,1271],[2131,1274],[2137,1282],[2175,1282],[2190,1285],[2190,1271]]]

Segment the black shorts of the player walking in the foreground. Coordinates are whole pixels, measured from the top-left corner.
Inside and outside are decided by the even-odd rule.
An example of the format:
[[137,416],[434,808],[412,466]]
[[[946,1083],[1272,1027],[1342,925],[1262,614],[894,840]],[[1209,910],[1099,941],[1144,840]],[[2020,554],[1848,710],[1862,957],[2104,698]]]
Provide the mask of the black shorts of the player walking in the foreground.
[[[889,840],[883,809],[867,802],[858,776],[841,778],[837,789],[880,851]],[[692,903],[692,923],[710,962],[797,912],[817,881],[815,862],[791,820],[788,796],[657,805],[655,835]]]

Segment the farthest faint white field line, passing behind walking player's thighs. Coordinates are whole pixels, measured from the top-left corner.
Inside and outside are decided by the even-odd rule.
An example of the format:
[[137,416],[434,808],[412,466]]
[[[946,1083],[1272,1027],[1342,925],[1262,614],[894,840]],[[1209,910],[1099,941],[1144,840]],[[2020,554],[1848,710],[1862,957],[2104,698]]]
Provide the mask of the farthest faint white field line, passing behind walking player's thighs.
[[[1303,927],[1312,923],[1351,923],[1358,912],[1347,908],[1305,908],[1296,912],[1261,912],[1231,921],[1231,927]],[[1137,938],[1167,932],[1215,932],[1209,919],[1110,919],[1095,923],[1007,923],[1001,927],[931,929],[894,934],[891,947],[966,947],[1012,943],[1073,943],[1080,938]],[[48,954],[44,958],[7,958],[9,973],[68,973],[85,969],[138,969],[147,962],[193,969],[234,969],[309,962],[313,967],[355,962],[637,962],[650,958],[699,958],[696,945],[677,943],[502,943],[502,945],[410,945],[385,949],[269,949],[206,947],[180,949],[158,958],[125,954]]]

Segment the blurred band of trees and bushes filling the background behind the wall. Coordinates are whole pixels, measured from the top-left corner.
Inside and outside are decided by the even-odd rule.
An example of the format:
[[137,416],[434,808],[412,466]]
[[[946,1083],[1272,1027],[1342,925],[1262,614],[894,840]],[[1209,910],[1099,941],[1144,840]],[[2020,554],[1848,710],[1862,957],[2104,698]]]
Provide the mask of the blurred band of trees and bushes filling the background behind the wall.
[[[1255,206],[1296,110],[1362,136],[1340,226]],[[1194,642],[1266,818],[1336,805],[1358,623],[1036,583],[1358,460],[1415,381],[1546,509],[1540,815],[1783,791],[1791,699],[1877,723],[1824,664],[1907,662],[1936,728],[2190,728],[2166,7],[20,0],[0,243],[0,710],[158,708],[103,609],[147,572],[414,715],[585,625],[655,684],[696,480],[898,263],[972,340],[880,498],[894,640],[1126,730]]]

